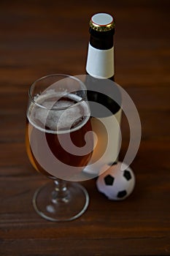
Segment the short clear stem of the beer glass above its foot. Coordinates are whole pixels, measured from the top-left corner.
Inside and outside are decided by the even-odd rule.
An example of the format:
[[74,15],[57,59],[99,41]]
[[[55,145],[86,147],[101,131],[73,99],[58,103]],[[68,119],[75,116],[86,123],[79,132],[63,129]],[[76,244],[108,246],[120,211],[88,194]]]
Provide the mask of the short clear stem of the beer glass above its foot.
[[69,190],[66,186],[66,181],[59,178],[54,180],[55,188],[52,192],[53,203],[67,203],[69,201]]

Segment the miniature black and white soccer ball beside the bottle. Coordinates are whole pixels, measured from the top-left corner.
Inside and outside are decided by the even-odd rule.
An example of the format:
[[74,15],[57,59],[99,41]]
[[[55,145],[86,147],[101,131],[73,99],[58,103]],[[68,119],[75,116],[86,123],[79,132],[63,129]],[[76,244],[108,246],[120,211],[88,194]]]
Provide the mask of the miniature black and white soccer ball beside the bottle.
[[[123,200],[134,190],[135,176],[130,167],[121,170],[122,162],[108,166],[108,169],[98,176],[96,186],[109,200]],[[123,164],[126,166],[125,164]]]

